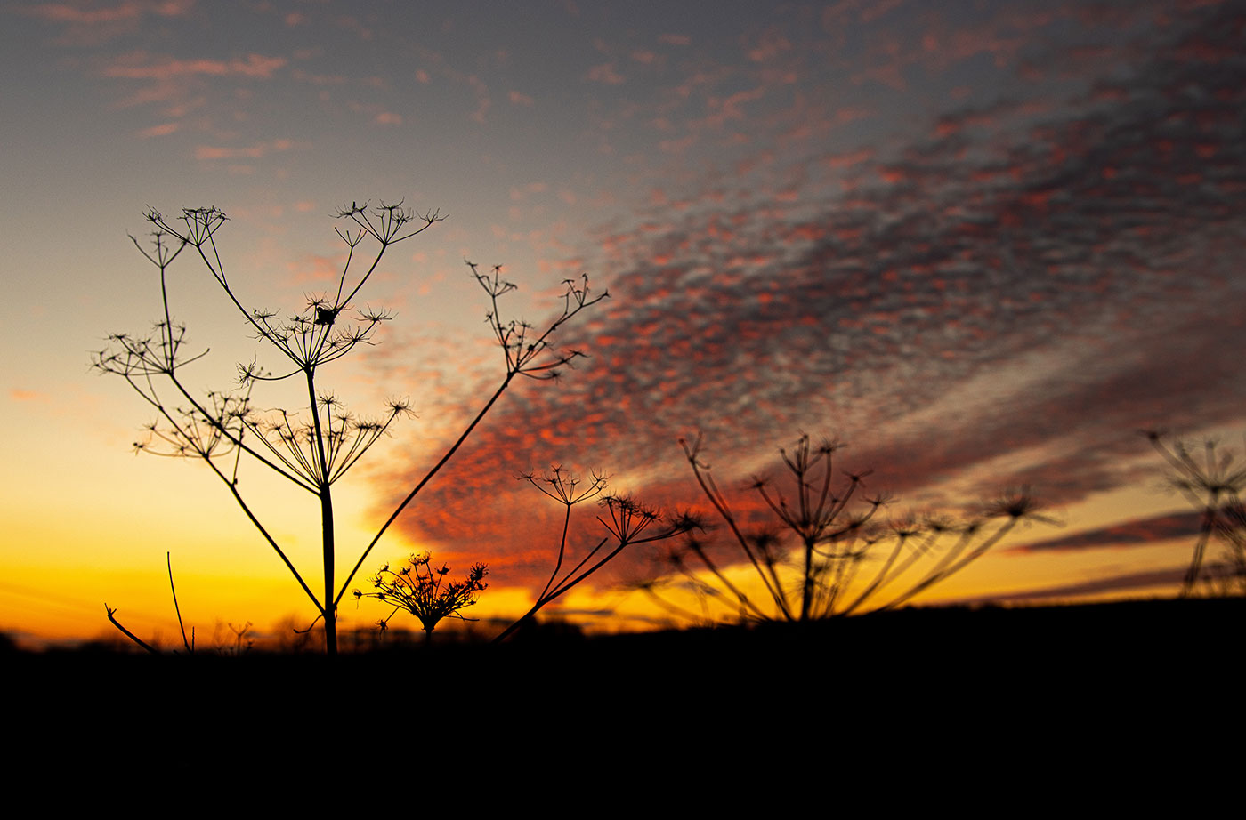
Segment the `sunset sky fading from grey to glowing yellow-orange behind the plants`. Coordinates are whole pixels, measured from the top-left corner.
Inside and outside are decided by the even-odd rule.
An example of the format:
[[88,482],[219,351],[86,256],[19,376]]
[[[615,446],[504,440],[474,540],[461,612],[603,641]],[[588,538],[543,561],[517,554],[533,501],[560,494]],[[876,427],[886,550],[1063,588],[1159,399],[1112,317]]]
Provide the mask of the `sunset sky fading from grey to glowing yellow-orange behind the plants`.
[[[515,384],[364,567],[485,561],[478,615],[518,613],[552,566],[558,509],[517,474],[704,506],[677,443],[698,432],[741,509],[804,432],[847,442],[893,514],[1029,487],[1063,521],[931,601],[1175,595],[1197,523],[1138,431],[1242,448],[1241,1],[5,1],[0,41],[19,637],[106,635],[107,601],[172,640],[166,551],[203,636],[314,616],[203,464],[133,454],[150,408],[91,371],[159,314],[127,239],[147,207],[223,209],[231,280],[282,314],[340,268],[344,204],[449,215],[356,300],[395,312],[383,343],[321,376],[363,416],[391,396],[419,414],[338,485],[339,571],[503,376],[464,260],[503,265],[503,312],[537,325],[567,277],[609,290],[559,336],[588,358]],[[212,348],[194,388],[277,365],[198,260],[169,297]],[[242,475],[314,577],[314,499]],[[567,610],[657,622],[617,591],[644,557]]]

